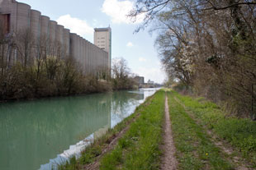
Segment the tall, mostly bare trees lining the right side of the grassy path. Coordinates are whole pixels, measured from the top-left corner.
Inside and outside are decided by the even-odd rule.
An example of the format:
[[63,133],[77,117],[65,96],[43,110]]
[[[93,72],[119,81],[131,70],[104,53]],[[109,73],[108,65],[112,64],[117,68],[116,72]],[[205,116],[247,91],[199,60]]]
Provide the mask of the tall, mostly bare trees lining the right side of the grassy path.
[[169,82],[256,119],[255,0],[137,0]]

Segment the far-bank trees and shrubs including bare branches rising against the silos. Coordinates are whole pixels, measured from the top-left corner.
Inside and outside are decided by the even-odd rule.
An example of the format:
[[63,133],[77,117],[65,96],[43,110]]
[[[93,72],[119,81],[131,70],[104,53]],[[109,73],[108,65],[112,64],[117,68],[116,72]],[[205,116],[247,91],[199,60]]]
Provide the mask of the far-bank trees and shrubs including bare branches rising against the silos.
[[[124,59],[122,59],[125,61]],[[124,66],[119,66],[125,64]],[[35,99],[130,89],[135,82],[126,63],[113,63],[120,70],[83,69],[59,42],[36,38],[30,30],[7,34],[0,25],[0,100]],[[112,74],[119,74],[111,78]],[[124,85],[126,84],[126,85]]]

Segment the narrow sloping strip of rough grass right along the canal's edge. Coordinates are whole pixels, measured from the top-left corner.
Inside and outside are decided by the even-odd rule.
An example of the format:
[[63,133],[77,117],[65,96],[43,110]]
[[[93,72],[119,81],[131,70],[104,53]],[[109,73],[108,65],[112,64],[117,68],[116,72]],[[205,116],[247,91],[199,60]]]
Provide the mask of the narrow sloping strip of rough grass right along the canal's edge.
[[107,133],[95,140],[92,145],[88,146],[81,153],[81,157],[79,159],[75,159],[75,157],[71,158],[69,162],[64,164],[60,164],[59,170],[76,170],[83,169],[83,166],[94,162],[97,159],[97,156],[102,154],[102,149],[106,148],[107,145],[111,143],[111,140],[115,138],[118,132],[122,131],[127,125],[132,122],[132,120],[140,115],[142,111],[145,110],[147,105],[151,103],[151,100],[154,98],[154,95],[145,100],[145,103],[140,104],[135,109],[135,113],[131,114],[129,117],[126,117],[122,122],[118,123],[113,129],[109,129]]

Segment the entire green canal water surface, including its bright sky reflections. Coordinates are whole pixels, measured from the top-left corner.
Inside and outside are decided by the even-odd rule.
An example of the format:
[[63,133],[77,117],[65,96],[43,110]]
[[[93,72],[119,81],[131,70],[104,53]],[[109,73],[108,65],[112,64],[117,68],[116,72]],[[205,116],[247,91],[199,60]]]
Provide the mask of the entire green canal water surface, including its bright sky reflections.
[[134,112],[156,89],[0,103],[0,170],[48,170]]

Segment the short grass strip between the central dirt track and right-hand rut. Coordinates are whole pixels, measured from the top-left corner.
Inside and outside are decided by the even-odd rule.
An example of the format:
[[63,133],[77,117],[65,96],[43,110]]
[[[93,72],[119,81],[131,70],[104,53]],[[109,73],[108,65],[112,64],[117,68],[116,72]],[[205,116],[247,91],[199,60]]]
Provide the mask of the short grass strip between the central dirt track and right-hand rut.
[[233,169],[225,154],[214,145],[203,127],[190,117],[174,96],[168,93],[173,139],[179,169]]

